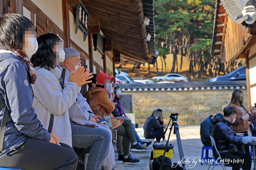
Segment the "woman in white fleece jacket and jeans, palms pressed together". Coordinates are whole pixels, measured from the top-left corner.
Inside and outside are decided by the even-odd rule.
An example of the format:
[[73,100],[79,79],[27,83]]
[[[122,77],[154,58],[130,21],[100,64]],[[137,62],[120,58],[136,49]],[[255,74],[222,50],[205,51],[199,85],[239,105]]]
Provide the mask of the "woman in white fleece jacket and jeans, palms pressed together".
[[[60,141],[74,147],[91,147],[86,169],[101,169],[101,163],[110,143],[110,134],[101,128],[70,123],[68,109],[77,99],[81,85],[91,78],[90,70],[78,66],[69,73],[65,83],[59,64],[65,59],[60,38],[55,34],[44,34],[37,38],[38,50],[31,61],[37,72],[37,82],[32,85],[33,107],[43,126],[60,136]],[[90,82],[90,81],[89,81]],[[85,142],[86,141],[86,142]],[[84,145],[82,145],[84,144]],[[101,147],[98,147],[101,146]]]

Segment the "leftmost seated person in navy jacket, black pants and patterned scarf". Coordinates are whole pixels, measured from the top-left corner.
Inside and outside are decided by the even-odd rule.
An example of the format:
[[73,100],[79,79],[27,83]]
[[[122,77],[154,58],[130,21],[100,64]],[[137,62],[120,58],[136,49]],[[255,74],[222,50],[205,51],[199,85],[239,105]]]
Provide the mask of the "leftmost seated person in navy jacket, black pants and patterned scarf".
[[37,74],[26,55],[28,47],[32,50],[35,46],[35,39],[29,42],[31,37],[35,37],[35,26],[27,17],[0,17],[0,122],[5,121],[3,114],[7,116],[0,142],[0,166],[75,170],[78,157],[73,149],[43,128],[32,107],[31,84],[36,83]]

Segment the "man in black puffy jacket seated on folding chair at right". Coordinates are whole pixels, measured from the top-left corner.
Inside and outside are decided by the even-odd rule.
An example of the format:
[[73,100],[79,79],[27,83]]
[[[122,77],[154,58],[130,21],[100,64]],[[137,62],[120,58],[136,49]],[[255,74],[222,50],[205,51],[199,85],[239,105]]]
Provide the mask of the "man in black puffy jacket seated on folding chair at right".
[[[246,144],[249,142],[248,139],[255,137],[243,136],[243,133],[235,133],[230,128],[230,125],[236,120],[236,109],[233,106],[227,106],[224,108],[224,117],[217,116],[213,118],[213,138],[216,143],[217,150],[219,151],[222,159],[232,160],[224,163],[232,165],[232,170],[239,170],[241,163],[243,164],[243,170],[250,170],[252,159],[249,153],[243,153],[237,151],[235,145]],[[255,140],[255,139],[254,139]],[[233,145],[232,145],[233,144]],[[218,154],[216,149],[213,147],[214,157],[217,158]],[[239,160],[239,161],[237,161]]]

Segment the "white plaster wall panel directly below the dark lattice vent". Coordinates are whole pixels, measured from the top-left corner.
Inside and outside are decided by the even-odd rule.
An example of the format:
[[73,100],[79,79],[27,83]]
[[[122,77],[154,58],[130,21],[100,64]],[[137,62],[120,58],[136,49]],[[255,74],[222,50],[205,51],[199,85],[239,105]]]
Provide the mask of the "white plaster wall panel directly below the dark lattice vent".
[[84,41],[84,33],[81,28],[78,28],[75,33],[75,16],[69,11],[69,24],[70,24],[70,39],[74,41],[81,49],[89,53],[88,49],[88,37]]

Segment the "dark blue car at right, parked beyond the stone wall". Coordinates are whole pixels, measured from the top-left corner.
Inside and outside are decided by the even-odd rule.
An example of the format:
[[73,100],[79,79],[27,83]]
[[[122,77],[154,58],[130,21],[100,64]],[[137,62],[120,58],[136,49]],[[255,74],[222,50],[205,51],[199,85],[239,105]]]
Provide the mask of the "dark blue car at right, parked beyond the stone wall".
[[245,74],[245,66],[239,67],[238,69],[232,71],[231,73],[219,76],[219,77],[213,77],[209,79],[209,82],[220,82],[220,81],[238,81],[238,80],[246,80],[246,74]]

